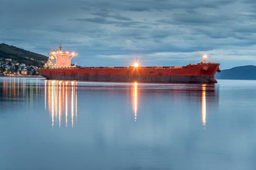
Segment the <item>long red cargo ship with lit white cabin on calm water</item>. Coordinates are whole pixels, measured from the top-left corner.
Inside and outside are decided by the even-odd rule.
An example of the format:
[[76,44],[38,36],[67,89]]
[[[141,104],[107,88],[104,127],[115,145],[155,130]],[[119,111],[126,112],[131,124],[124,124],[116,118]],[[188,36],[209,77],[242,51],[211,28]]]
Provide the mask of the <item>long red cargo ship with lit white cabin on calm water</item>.
[[76,67],[71,66],[71,59],[77,53],[51,51],[40,74],[50,80],[80,80],[106,82],[141,82],[141,83],[217,83],[216,72],[219,63],[204,62],[181,67],[140,67],[137,63],[129,67]]

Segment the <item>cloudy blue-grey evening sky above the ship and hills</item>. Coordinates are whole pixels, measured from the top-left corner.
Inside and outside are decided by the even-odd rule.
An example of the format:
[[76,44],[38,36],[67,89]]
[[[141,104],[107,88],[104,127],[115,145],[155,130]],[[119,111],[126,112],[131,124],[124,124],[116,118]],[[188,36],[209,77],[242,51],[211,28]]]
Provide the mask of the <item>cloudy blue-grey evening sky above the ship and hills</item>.
[[80,66],[256,65],[256,0],[0,0],[0,43]]

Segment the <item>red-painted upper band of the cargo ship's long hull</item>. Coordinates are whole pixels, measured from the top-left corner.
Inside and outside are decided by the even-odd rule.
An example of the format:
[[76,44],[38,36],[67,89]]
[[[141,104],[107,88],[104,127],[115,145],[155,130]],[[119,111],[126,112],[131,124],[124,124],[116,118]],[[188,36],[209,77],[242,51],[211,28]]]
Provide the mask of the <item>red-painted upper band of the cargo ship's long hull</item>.
[[[219,68],[218,63],[199,63],[183,67],[91,67],[91,68],[40,68],[42,76],[47,78],[57,77],[58,75],[75,76],[100,76],[101,80],[109,81],[107,76],[202,76],[203,82],[205,77],[213,77]],[[55,75],[55,76],[54,76]],[[106,76],[106,78],[104,78]],[[65,76],[61,76],[65,77]],[[49,78],[51,79],[51,78]],[[65,78],[64,78],[65,80]],[[95,79],[97,81],[97,79]],[[118,81],[118,80],[117,80]],[[128,80],[127,80],[128,81]],[[216,80],[215,80],[216,81]],[[151,81],[154,82],[154,81]],[[188,82],[190,82],[188,80]],[[169,82],[166,82],[169,83]],[[217,83],[212,82],[212,83]]]

